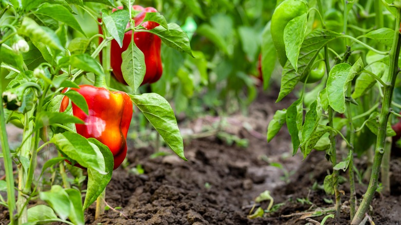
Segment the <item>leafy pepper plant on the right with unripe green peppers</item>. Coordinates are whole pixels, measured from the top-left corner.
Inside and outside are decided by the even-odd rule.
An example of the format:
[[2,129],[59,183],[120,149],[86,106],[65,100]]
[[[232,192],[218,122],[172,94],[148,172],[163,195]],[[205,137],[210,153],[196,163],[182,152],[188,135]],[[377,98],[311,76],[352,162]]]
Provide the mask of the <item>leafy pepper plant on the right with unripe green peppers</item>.
[[[278,59],[282,74],[277,102],[291,92],[298,96],[288,108],[276,111],[267,140],[286,123],[294,155],[298,149],[304,158],[313,149],[325,152],[333,171],[324,179],[324,190],[335,195],[337,217],[342,204],[339,171],[348,170],[351,224],[363,220],[378,188],[380,165],[390,151],[386,138],[395,135],[389,118],[401,117],[396,113],[400,105],[393,101],[399,85],[400,12],[401,2],[391,0],[278,1],[263,32],[263,79],[268,81],[280,66]],[[320,62],[327,76],[306,84]],[[337,155],[337,137],[346,143],[344,157]],[[356,199],[354,156],[370,155],[372,145],[369,186],[363,198]],[[389,175],[383,171],[381,181],[388,185]]]

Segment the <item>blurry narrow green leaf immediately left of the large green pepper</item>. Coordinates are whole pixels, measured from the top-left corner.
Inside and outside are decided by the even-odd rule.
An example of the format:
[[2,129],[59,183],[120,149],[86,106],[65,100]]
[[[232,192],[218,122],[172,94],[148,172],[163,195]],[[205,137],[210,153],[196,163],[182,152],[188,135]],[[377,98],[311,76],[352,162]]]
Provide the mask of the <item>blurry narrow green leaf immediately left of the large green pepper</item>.
[[271,38],[270,21],[265,26],[262,33],[262,76],[263,88],[266,90],[269,86],[271,73],[276,67],[277,51]]

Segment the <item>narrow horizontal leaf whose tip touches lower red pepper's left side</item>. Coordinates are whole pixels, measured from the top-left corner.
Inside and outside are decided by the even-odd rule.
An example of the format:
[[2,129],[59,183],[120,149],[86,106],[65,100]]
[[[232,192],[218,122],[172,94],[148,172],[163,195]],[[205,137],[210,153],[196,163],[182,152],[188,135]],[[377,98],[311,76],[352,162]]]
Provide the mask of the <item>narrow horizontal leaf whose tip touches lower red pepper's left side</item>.
[[66,115],[63,113],[58,113],[56,111],[41,111],[39,115],[37,115],[37,123],[35,124],[34,131],[38,130],[44,126],[49,126],[51,124],[59,123],[79,123],[84,124],[84,121],[79,119],[78,117]]

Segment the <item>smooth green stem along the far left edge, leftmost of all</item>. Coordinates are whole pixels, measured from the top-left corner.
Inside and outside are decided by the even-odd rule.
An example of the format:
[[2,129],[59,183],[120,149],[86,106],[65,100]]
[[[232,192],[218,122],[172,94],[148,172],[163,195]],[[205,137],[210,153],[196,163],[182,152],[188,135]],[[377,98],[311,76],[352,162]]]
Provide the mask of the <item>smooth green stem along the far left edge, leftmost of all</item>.
[[[0,68],[0,72],[1,70],[2,69]],[[0,90],[2,90],[2,82],[0,82]],[[16,224],[14,218],[14,215],[16,213],[15,192],[14,192],[15,186],[14,186],[14,175],[12,172],[11,152],[6,132],[6,119],[4,117],[3,98],[0,98],[0,139],[3,149],[4,171],[6,173],[8,211],[10,212],[10,224],[13,225]]]

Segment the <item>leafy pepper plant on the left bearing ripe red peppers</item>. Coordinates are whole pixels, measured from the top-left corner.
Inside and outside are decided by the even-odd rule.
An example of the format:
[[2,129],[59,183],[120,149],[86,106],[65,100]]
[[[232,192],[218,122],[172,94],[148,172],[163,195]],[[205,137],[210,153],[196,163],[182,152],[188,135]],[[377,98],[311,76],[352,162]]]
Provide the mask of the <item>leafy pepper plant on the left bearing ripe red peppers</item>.
[[[0,137],[6,173],[1,184],[7,187],[7,199],[0,199],[0,204],[9,209],[11,224],[84,224],[83,211],[99,196],[97,203],[101,203],[113,170],[125,158],[133,105],[186,160],[170,104],[156,93],[138,90],[145,73],[156,65],[145,63],[147,52],[136,46],[134,35],[124,33],[152,34],[166,46],[192,56],[188,36],[155,11],[143,14],[141,22],[135,23],[141,12],[134,10],[138,7],[133,4],[131,0],[1,1],[0,105],[4,108],[0,107]],[[86,27],[75,15],[92,18],[101,33],[87,36]],[[147,23],[159,26],[148,29]],[[111,42],[120,47],[128,43],[119,54],[123,79],[129,86],[113,83],[112,69],[119,68],[111,66]],[[81,82],[86,85],[79,85]],[[7,123],[23,128],[22,143],[16,148],[10,148]],[[57,147],[59,157],[37,168],[38,152],[50,144]],[[87,170],[83,204],[82,193],[67,181],[64,160]],[[45,190],[39,181],[45,170],[57,163],[63,186]],[[40,176],[34,175],[36,170],[42,171]],[[30,201],[37,198],[47,204],[29,208]]]

